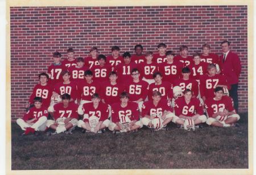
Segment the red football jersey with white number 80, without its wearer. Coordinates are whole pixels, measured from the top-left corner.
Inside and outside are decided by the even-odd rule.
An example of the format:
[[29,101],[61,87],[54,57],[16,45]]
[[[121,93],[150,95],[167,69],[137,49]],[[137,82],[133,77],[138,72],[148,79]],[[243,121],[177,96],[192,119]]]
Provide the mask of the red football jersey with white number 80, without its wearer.
[[71,98],[73,98],[74,101],[77,98],[76,83],[72,81],[69,84],[64,84],[64,82],[59,82],[54,86],[54,91],[60,95],[67,93],[71,96]]

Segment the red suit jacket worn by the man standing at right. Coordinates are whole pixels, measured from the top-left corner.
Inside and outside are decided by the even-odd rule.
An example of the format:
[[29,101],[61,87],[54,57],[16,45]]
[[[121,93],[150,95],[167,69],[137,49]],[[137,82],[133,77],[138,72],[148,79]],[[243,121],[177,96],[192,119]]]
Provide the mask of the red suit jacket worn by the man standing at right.
[[226,76],[229,85],[237,84],[241,73],[241,61],[238,55],[229,51],[224,62],[223,57],[224,54],[220,56],[221,73]]

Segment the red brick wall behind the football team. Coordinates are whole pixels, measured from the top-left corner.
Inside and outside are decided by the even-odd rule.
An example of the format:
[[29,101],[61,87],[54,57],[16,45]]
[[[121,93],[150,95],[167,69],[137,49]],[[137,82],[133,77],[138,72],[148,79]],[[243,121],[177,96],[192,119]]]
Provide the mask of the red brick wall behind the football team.
[[231,41],[231,49],[242,62],[239,84],[240,111],[247,111],[247,6],[144,6],[144,7],[11,7],[11,118],[24,114],[24,106],[38,73],[46,72],[55,51],[68,47],[85,57],[89,48],[110,54],[118,45],[121,53],[133,53],[135,44],[156,52],[166,43],[189,55],[208,43],[221,54],[220,42]]

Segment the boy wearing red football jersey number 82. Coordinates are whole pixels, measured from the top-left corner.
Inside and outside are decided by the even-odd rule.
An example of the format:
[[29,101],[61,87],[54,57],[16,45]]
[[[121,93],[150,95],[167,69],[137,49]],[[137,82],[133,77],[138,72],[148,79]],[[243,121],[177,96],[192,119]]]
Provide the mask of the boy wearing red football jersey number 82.
[[89,70],[89,68],[84,65],[84,59],[82,57],[78,57],[76,62],[77,65],[70,66],[68,72],[70,73],[70,80],[76,82],[76,84],[80,84],[84,81],[84,72]]

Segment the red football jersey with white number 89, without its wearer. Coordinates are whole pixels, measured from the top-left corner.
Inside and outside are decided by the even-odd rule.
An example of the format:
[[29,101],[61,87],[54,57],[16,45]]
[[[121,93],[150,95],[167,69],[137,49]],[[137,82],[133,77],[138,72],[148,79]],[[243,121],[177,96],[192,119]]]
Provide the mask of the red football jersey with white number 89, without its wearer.
[[42,105],[45,107],[49,107],[51,103],[53,88],[51,85],[47,84],[46,86],[42,86],[40,84],[35,85],[32,94],[30,95],[30,104],[34,103],[33,100],[35,97],[42,97]]

